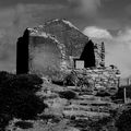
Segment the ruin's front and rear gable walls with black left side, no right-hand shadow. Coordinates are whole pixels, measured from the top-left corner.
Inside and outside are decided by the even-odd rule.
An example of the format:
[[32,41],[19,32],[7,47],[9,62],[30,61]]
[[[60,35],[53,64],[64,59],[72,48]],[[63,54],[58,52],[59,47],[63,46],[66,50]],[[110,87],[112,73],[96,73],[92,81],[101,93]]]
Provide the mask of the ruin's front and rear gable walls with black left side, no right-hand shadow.
[[87,41],[87,36],[63,20],[27,28],[17,41],[17,61],[23,59],[22,63],[17,62],[17,73],[58,74],[59,71],[72,68],[70,56],[80,57]]

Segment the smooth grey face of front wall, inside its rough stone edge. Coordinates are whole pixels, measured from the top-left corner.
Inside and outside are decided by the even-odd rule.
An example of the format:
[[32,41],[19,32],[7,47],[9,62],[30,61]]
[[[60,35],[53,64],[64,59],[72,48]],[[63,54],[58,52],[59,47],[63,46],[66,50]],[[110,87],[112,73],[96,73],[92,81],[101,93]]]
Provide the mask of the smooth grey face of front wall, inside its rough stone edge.
[[58,43],[51,38],[33,36],[29,38],[29,72],[48,74],[49,71],[59,71],[62,58]]

